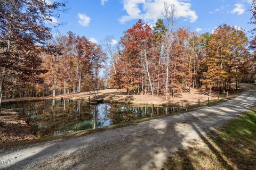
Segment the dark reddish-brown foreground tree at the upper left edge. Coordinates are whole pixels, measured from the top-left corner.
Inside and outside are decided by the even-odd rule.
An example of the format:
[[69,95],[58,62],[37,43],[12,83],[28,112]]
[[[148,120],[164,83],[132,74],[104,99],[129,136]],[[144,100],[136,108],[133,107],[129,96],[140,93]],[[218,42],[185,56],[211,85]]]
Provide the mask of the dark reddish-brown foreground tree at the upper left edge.
[[0,6],[0,94],[3,94],[5,78],[10,76],[9,73],[17,72],[21,77],[26,77],[39,72],[42,61],[38,54],[43,48],[38,46],[51,37],[45,21],[52,22],[54,10],[65,4],[6,0],[1,1]]

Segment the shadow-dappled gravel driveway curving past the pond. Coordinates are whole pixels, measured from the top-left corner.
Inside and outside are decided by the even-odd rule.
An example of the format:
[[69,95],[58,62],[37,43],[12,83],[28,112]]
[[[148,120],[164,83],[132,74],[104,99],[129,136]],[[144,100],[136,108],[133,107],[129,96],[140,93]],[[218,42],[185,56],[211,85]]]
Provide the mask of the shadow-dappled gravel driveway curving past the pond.
[[[239,97],[213,107],[62,141],[0,151],[8,169],[160,169],[179,148],[206,145],[206,132],[248,111],[256,86],[243,84]],[[10,162],[9,162],[10,163]]]

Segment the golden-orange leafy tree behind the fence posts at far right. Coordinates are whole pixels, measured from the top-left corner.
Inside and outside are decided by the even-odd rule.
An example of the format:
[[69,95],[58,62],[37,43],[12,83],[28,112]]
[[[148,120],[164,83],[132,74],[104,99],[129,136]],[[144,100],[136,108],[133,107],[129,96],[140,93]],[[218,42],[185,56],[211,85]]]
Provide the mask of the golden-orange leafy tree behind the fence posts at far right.
[[210,89],[210,95],[214,86],[219,87],[220,92],[222,89],[227,90],[227,87],[230,90],[232,78],[235,79],[237,88],[238,72],[242,71],[243,63],[248,60],[247,45],[248,39],[244,31],[227,24],[215,29],[207,45],[207,71],[202,80]]

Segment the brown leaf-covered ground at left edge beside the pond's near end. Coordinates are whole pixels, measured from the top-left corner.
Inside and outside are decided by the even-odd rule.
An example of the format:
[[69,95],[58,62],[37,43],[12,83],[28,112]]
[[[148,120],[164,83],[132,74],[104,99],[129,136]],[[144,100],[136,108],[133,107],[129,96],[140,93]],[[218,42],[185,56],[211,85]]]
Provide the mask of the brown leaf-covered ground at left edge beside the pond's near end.
[[26,117],[17,112],[3,109],[0,114],[0,143],[36,139],[35,135],[29,131],[26,120]]

